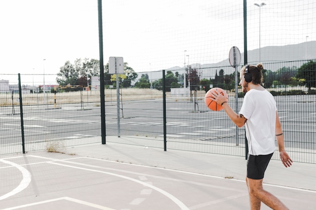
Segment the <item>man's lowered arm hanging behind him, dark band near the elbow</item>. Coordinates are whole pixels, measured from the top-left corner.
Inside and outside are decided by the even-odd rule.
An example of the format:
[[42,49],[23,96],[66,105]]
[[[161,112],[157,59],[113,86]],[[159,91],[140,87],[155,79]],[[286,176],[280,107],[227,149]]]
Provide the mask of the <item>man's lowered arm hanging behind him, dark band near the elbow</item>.
[[278,142],[281,161],[285,167],[290,167],[293,161],[291,160],[290,156],[285,152],[283,131],[282,131],[282,126],[281,126],[280,118],[277,111],[276,111],[276,138]]

